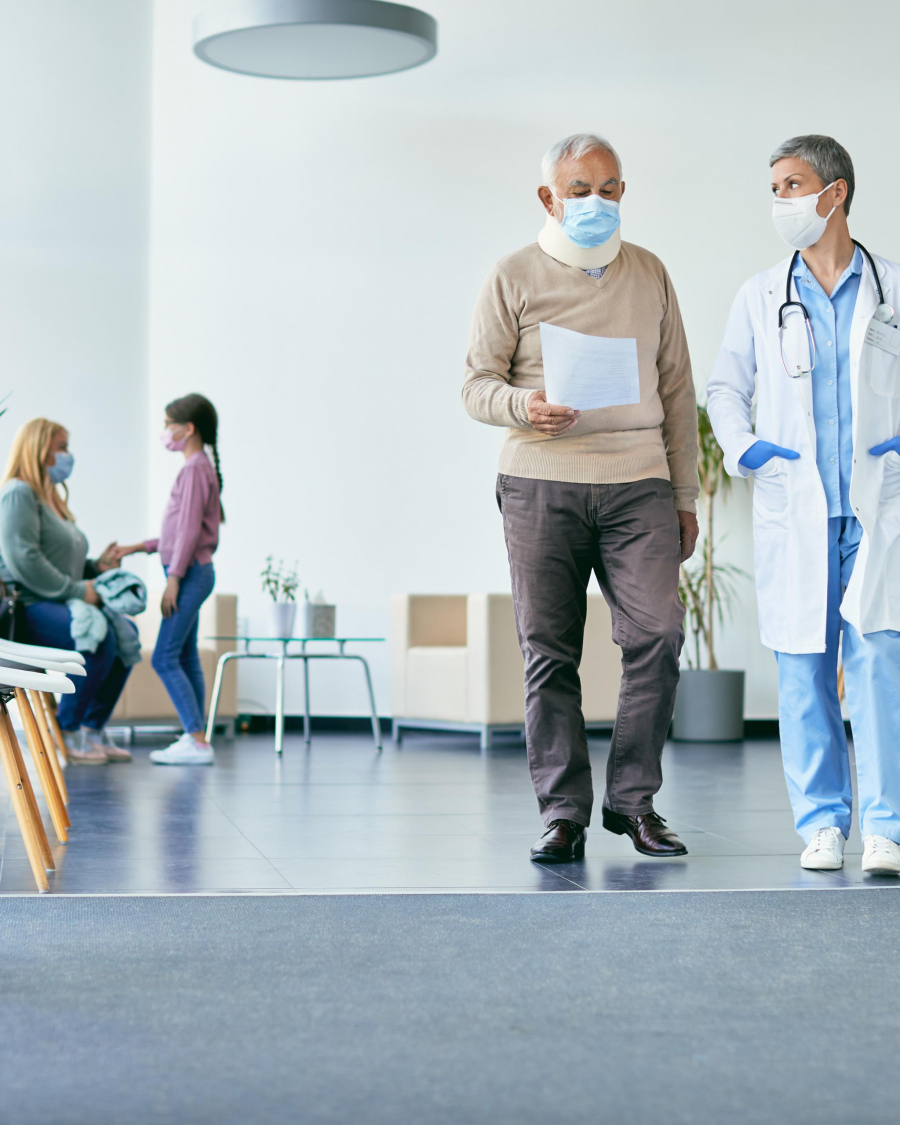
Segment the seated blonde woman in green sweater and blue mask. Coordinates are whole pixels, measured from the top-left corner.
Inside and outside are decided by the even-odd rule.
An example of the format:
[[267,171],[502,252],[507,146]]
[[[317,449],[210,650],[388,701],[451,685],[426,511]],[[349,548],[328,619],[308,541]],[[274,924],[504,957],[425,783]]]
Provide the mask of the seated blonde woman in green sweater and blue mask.
[[[88,540],[69,511],[64,484],[73,466],[64,426],[35,418],[16,434],[0,488],[0,579],[18,587],[24,608],[25,633],[16,639],[52,648],[75,647],[66,602],[99,606],[91,579],[117,565],[115,544],[96,561],[88,559]],[[129,762],[128,750],[105,729],[129,672],[115,630],[84,659],[87,675],[60,704],[70,758],[80,765]]]

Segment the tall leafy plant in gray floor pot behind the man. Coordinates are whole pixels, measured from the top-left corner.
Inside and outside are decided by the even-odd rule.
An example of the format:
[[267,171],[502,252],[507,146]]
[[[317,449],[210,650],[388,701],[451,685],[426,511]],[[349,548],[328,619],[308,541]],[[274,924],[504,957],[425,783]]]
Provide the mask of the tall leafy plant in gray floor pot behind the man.
[[698,405],[702,538],[694,558],[681,569],[678,591],[686,610],[687,668],[675,698],[672,737],[684,741],[726,742],[744,737],[742,670],[722,669],[716,659],[716,630],[730,613],[744,570],[716,561],[717,496],[726,496],[731,478],[705,406]]

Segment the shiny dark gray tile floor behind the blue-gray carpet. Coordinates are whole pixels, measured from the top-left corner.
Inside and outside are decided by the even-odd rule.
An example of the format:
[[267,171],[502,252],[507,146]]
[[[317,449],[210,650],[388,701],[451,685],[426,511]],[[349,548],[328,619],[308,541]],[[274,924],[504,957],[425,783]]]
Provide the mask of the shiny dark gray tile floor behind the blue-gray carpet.
[[[690,855],[655,861],[598,822],[583,863],[541,867],[524,750],[410,736],[382,755],[364,735],[222,741],[213,768],[130,765],[68,771],[72,832],[51,890],[69,893],[622,891],[897,885],[863,876],[854,830],[842,872],[801,871],[774,740],[669,744],[657,808]],[[602,784],[608,739],[592,740]],[[597,796],[597,803],[600,794]],[[50,822],[47,820],[47,826]],[[0,894],[35,890],[6,790]]]

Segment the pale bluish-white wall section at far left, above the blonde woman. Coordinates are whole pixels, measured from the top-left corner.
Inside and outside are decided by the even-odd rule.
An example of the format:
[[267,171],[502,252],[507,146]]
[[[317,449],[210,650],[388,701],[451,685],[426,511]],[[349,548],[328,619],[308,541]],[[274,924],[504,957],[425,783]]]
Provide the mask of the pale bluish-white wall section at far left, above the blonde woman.
[[146,513],[151,2],[0,2],[0,462],[70,429],[92,548]]

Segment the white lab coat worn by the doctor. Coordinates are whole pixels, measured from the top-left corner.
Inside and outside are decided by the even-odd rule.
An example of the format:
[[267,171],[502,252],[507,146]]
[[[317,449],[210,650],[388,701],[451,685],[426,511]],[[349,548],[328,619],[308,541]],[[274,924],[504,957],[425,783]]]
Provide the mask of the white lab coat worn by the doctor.
[[[894,305],[900,302],[900,266],[882,258],[875,258],[875,266],[884,300]],[[785,259],[741,287],[706,390],[710,420],[731,476],[748,475],[738,461],[759,439],[800,453],[795,461],[773,458],[753,474],[759,631],[763,644],[781,652],[824,652],[828,505],[816,466],[811,377],[789,378],[778,349],[777,315],[789,267]],[[792,299],[798,299],[794,285]],[[900,630],[900,456],[868,452],[900,434],[900,358],[865,342],[876,305],[872,268],[864,254],[849,344],[850,505],[863,536],[840,605],[844,619],[863,634]],[[898,317],[891,323],[897,324]],[[817,345],[824,349],[826,342]],[[806,325],[795,312],[785,318],[784,356],[789,368],[796,363],[809,368]]]

